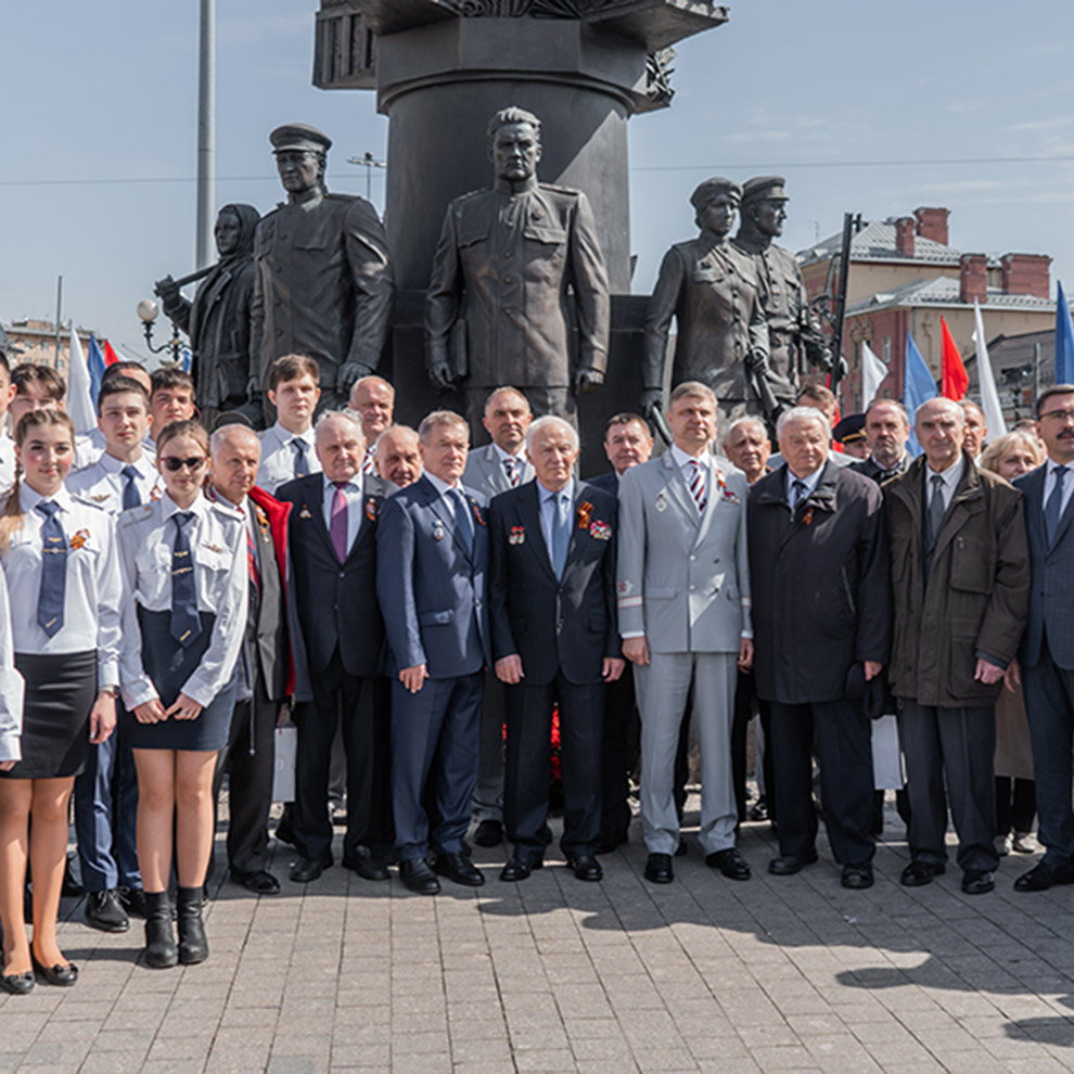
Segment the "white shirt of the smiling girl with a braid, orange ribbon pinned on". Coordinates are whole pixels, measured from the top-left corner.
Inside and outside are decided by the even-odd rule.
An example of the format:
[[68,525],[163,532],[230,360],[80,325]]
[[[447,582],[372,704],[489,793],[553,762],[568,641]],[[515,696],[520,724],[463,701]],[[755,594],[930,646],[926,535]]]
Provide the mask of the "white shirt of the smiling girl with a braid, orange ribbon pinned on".
[[95,652],[98,686],[119,685],[119,625],[123,589],[116,560],[115,523],[98,507],[61,488],[50,499],[67,538],[67,580],[63,626],[50,638],[37,622],[41,591],[44,515],[35,510],[44,498],[25,482],[18,488],[23,524],[0,552],[11,600],[12,643],[16,653],[53,655]]

